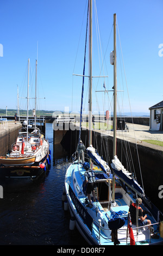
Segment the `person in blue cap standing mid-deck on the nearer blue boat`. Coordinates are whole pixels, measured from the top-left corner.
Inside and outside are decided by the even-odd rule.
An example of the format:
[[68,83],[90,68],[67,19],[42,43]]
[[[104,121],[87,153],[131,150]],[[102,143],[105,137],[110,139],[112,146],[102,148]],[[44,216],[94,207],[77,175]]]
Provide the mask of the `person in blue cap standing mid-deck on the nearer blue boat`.
[[91,192],[93,194],[93,202],[96,202],[95,190],[94,190],[96,187],[95,173],[90,169],[89,163],[86,163],[83,166],[86,169],[84,173],[84,177],[85,177],[84,186],[87,184],[86,193],[87,193],[87,198],[89,199],[89,204],[87,206],[92,208]]

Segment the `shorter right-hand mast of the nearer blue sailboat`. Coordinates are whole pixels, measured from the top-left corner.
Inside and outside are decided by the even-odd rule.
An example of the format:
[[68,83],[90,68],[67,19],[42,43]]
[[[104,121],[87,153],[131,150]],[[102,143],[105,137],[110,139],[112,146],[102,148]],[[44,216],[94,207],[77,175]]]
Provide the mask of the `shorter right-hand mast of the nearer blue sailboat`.
[[114,14],[114,143],[113,143],[113,158],[116,155],[116,129],[117,129],[117,63],[116,63],[116,14]]

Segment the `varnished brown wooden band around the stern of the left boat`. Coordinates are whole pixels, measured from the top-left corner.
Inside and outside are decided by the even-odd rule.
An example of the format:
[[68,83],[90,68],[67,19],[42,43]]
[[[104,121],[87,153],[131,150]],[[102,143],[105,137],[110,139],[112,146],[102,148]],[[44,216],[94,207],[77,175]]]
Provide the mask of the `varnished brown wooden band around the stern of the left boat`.
[[3,166],[30,166],[35,162],[35,156],[30,157],[0,157],[0,164]]

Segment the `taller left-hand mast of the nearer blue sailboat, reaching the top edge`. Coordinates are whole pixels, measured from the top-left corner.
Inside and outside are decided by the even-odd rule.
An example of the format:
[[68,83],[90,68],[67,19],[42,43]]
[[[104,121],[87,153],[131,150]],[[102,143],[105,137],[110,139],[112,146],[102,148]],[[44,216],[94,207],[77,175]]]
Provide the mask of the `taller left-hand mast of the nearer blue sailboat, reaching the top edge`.
[[90,62],[90,90],[89,90],[89,145],[92,144],[92,0],[89,2],[90,30],[89,30],[89,62]]

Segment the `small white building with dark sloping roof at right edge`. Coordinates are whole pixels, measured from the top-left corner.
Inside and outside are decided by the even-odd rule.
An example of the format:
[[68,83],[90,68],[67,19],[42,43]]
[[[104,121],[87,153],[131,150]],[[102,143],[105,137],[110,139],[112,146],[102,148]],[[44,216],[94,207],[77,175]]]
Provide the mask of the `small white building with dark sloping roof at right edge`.
[[163,130],[162,127],[162,111],[163,111],[163,101],[157,103],[156,105],[149,107],[150,110],[150,121],[149,130]]

